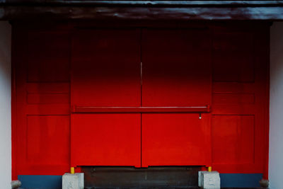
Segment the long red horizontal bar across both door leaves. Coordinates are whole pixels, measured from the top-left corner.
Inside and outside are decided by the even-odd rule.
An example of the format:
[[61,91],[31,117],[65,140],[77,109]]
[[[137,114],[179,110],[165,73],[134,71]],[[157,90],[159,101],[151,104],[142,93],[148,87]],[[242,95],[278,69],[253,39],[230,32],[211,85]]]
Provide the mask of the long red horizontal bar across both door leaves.
[[93,107],[74,106],[72,113],[209,113],[207,106],[187,107]]

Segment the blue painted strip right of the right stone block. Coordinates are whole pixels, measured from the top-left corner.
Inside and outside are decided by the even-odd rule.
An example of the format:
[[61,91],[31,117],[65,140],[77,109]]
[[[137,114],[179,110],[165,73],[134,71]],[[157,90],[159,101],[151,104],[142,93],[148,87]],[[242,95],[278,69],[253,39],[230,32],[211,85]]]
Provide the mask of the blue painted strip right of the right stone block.
[[242,173],[221,173],[221,188],[257,188],[260,187],[259,181],[262,173],[242,174]]

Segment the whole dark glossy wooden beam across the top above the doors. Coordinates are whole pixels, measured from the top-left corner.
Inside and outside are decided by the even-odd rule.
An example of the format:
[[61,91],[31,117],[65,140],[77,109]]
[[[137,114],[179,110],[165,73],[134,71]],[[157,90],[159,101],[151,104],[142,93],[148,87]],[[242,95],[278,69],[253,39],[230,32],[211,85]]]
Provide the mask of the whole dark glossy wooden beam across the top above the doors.
[[0,20],[283,20],[283,1],[0,0]]

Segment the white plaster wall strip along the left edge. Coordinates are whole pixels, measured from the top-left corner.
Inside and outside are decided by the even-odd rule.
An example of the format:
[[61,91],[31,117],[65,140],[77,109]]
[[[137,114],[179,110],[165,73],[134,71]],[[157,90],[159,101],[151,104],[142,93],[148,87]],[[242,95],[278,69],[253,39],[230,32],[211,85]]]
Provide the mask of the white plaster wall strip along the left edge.
[[0,21],[0,188],[11,188],[11,25]]

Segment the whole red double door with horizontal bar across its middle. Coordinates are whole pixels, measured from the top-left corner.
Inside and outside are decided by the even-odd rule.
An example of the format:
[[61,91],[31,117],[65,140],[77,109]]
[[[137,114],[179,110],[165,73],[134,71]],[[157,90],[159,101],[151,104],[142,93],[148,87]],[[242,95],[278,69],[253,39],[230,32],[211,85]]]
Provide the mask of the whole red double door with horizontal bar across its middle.
[[71,166],[210,164],[208,33],[77,30]]

